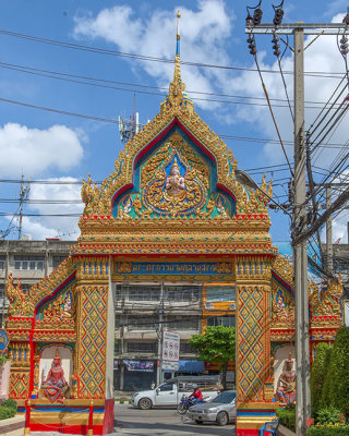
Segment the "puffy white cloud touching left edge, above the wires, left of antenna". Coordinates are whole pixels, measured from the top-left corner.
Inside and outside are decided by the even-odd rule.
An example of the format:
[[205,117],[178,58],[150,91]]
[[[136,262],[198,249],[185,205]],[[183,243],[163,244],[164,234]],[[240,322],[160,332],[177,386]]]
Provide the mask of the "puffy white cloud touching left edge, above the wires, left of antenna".
[[7,123],[0,128],[0,173],[31,177],[46,170],[67,171],[83,157],[81,136],[65,125],[39,130]]

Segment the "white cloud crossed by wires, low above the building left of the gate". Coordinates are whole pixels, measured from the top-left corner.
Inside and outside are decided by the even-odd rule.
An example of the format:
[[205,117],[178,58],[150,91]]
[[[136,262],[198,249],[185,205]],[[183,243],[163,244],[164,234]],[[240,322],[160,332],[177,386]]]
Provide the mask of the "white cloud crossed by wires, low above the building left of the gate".
[[[41,217],[24,217],[23,233],[32,234],[33,239],[41,240],[60,235],[61,239],[75,240],[80,234],[77,227],[79,217],[64,215],[82,214],[83,204],[69,204],[64,202],[81,199],[81,184],[62,184],[62,182],[76,182],[77,179],[64,177],[58,179],[46,179],[46,181],[58,182],[57,184],[32,184],[29,202],[26,213],[40,214]],[[32,201],[32,202],[31,202]],[[37,204],[34,201],[44,201]],[[59,202],[62,203],[45,203]],[[53,216],[45,216],[53,215]],[[55,216],[56,215],[56,216]],[[63,215],[63,216],[62,216]]]

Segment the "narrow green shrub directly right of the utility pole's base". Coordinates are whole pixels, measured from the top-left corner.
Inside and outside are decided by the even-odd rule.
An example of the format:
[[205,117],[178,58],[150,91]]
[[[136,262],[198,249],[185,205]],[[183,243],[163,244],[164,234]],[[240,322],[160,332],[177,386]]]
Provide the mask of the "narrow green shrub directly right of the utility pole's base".
[[316,347],[315,360],[310,376],[312,412],[314,414],[321,408],[322,392],[324,390],[324,380],[328,371],[329,360],[330,348],[328,343],[320,343]]

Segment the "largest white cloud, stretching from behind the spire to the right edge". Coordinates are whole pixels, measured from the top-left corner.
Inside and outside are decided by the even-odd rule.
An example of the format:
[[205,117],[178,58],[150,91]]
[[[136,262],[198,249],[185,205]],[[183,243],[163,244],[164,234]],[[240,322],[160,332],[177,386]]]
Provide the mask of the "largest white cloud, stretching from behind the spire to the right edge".
[[[335,4],[336,3],[336,4]],[[340,1],[335,2],[336,8],[341,4]],[[115,7],[103,10],[97,16],[85,16],[76,19],[74,34],[75,37],[103,38],[108,43],[115,44],[120,51],[137,52],[144,56],[153,56],[159,58],[173,58],[174,51],[174,15],[177,8],[172,12],[154,11],[147,20],[140,19],[128,5]],[[230,12],[230,11],[229,11]],[[334,17],[334,22],[341,22],[342,14]],[[230,50],[230,57],[227,51],[228,41],[232,37],[233,16],[226,10],[226,3],[220,0],[205,0],[197,2],[197,11],[188,8],[181,8],[181,58],[193,62],[205,62],[210,64],[236,64],[233,52]],[[119,25],[119,21],[120,23]],[[161,25],[159,25],[161,23]],[[127,31],[125,31],[127,28]],[[272,36],[256,36],[257,47],[262,38]],[[305,46],[313,37],[305,38]],[[244,38],[242,38],[244,39]],[[245,41],[243,43],[245,44]],[[282,44],[280,43],[281,47]],[[238,49],[238,48],[237,48]],[[240,50],[240,48],[239,48]],[[245,46],[245,50],[248,50]],[[272,43],[269,52],[272,52]],[[264,73],[264,81],[272,99],[286,99],[284,85],[279,74],[277,61],[267,59],[266,53],[258,52],[258,61],[261,69],[274,70],[275,74]],[[167,86],[172,78],[173,66],[171,64],[159,62],[139,63],[144,71],[154,77],[160,86]],[[241,65],[255,69],[255,64],[251,57],[251,63]],[[293,59],[291,55],[286,55],[282,60],[284,71],[293,71]],[[305,51],[305,71],[321,72],[342,72],[345,73],[345,64],[338,52],[336,37],[322,36],[312,44]],[[189,89],[201,90],[206,93],[224,92],[229,95],[243,95],[251,98],[262,97],[264,93],[257,73],[243,72],[241,74],[227,72],[219,69],[197,69],[193,66],[182,65],[182,77]],[[285,75],[289,96],[293,99],[293,76]],[[327,101],[333,90],[338,84],[338,80],[333,77],[316,78],[313,76],[305,77],[305,100],[324,102]],[[205,96],[204,96],[205,98]],[[256,102],[256,100],[251,100]],[[261,100],[265,104],[265,100]],[[204,109],[216,110],[217,105],[212,102],[198,102]],[[292,141],[293,125],[288,108],[278,108],[278,105],[287,105],[286,101],[272,100],[274,113],[276,116],[281,136],[288,141]],[[306,104],[306,106],[311,106]],[[321,104],[316,105],[321,107]],[[320,109],[305,110],[305,126],[311,125]],[[277,138],[270,113],[266,107],[261,106],[236,106],[220,105],[219,111],[215,112],[219,116],[220,121],[227,123],[248,122],[254,135],[258,132],[262,137]],[[348,114],[347,114],[348,117]],[[348,140],[347,124],[348,118],[341,122],[330,137],[330,143],[345,144]],[[248,136],[248,135],[246,135]],[[249,134],[250,136],[250,134]],[[287,147],[292,160],[293,147]],[[317,166],[328,168],[338,150],[320,148],[321,154],[314,156]],[[263,148],[265,165],[285,162],[281,147],[278,144],[267,144]],[[338,226],[338,231],[336,230]],[[344,225],[336,223],[334,226],[334,234],[344,232]],[[340,234],[339,234],[340,235]],[[338,235],[338,238],[339,238]]]

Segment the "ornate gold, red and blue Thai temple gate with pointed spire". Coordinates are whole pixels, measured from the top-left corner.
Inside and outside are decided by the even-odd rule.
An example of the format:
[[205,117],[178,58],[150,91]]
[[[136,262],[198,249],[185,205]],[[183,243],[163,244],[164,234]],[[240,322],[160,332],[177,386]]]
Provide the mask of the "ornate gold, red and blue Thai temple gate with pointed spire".
[[[257,435],[275,416],[277,353],[294,336],[291,267],[272,246],[267,197],[238,183],[231,150],[184,89],[178,52],[160,113],[130,140],[100,187],[84,182],[70,257],[28,293],[10,278],[10,397],[31,410],[32,429],[112,432],[112,289],[123,281],[236,286],[237,434]],[[272,195],[270,183],[262,189]],[[340,325],[340,286],[328,289],[327,312],[312,293],[313,343],[333,340]]]

